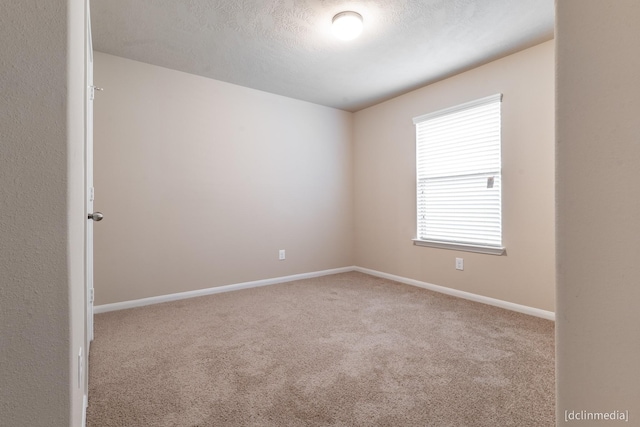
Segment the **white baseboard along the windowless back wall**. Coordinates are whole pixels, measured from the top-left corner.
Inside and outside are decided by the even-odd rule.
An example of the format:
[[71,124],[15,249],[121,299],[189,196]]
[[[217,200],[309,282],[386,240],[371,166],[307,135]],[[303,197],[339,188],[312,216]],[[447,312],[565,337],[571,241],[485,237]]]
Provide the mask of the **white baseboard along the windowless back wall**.
[[278,283],[293,282],[294,280],[311,279],[313,277],[329,276],[331,274],[347,273],[354,271],[355,267],[334,268],[331,270],[314,271],[312,273],[294,274],[291,276],[274,277],[272,279],[254,280],[252,282],[236,283],[232,285],[217,286],[214,288],[198,289],[196,291],[179,292],[175,294],[160,295],[157,297],[142,298],[131,301],[115,302],[111,304],[96,305],[93,308],[95,314],[109,311],[126,310],[128,308],[144,307],[146,305],[160,304],[163,302],[178,301],[181,299],[201,297],[205,295],[219,294],[222,292],[238,291],[240,289],[257,288],[260,286],[275,285]]

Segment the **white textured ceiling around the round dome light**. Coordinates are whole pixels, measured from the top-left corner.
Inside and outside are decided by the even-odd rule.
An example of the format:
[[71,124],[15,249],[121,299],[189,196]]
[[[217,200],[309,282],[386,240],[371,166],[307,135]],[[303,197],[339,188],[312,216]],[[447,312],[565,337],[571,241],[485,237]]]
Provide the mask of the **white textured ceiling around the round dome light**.
[[[554,0],[92,0],[94,49],[348,111],[553,38]],[[331,34],[354,10],[364,31]]]

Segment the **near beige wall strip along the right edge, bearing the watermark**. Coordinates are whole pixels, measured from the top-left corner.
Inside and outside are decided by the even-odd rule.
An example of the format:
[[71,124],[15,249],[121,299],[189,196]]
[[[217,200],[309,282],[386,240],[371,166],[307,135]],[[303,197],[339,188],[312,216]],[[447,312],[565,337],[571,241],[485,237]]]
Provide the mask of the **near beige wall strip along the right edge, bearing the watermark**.
[[640,2],[556,4],[558,425],[638,425]]

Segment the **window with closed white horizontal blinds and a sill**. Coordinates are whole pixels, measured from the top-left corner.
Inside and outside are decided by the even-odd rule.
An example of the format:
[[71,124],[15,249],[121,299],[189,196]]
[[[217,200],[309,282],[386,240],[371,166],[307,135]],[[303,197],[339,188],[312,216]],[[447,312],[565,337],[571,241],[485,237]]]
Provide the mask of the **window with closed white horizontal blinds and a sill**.
[[413,119],[416,245],[504,253],[501,101],[497,94]]

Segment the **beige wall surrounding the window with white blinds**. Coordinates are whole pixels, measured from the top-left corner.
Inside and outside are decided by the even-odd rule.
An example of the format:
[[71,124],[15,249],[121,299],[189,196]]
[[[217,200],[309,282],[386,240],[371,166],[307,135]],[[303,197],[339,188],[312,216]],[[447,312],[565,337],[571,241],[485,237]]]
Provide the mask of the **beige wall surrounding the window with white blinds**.
[[[414,246],[412,118],[499,92],[507,254]],[[356,265],[554,311],[553,41],[359,111],[354,124]]]

